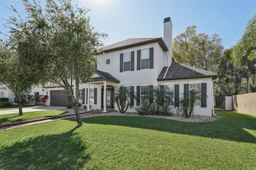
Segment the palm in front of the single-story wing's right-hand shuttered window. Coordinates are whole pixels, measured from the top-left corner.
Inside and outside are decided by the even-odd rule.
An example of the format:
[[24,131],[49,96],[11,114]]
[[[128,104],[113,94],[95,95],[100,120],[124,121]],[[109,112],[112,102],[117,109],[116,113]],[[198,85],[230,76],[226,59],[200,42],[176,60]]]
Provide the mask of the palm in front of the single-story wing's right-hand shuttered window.
[[[200,90],[191,89],[189,93],[183,93],[183,97],[179,101],[179,106],[177,109],[177,113],[184,114],[185,117],[191,117],[194,111],[195,102],[197,100],[202,101],[201,97],[199,96]],[[205,102],[205,101],[203,101]]]

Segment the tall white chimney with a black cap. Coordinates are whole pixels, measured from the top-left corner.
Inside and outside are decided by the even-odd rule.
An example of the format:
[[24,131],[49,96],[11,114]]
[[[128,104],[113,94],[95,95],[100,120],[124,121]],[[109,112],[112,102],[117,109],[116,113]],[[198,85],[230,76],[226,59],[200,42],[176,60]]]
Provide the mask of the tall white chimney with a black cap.
[[172,63],[172,22],[171,18],[164,18],[164,42],[168,47],[167,58],[168,66]]

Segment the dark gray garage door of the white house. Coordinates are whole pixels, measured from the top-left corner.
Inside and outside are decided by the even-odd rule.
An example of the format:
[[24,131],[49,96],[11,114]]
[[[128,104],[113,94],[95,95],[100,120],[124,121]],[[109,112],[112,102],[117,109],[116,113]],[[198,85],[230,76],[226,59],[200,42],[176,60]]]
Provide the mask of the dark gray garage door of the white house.
[[66,106],[68,103],[67,94],[64,90],[51,91],[51,106]]

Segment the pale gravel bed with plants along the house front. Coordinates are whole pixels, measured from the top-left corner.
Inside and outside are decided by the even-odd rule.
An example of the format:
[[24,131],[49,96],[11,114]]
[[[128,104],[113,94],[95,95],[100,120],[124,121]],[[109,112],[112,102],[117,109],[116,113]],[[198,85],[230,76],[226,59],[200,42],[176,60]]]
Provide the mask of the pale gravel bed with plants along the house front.
[[[61,109],[62,111],[67,111],[65,115],[75,114],[74,109]],[[80,113],[86,112],[85,109],[79,109]],[[119,111],[114,112],[107,112],[107,113],[97,113],[94,115],[86,115],[82,117],[94,117],[94,116],[140,116],[140,117],[154,117],[154,118],[161,118],[161,119],[172,119],[176,121],[186,121],[186,122],[212,122],[216,121],[218,117],[211,117],[211,116],[199,116],[193,115],[190,118],[184,117],[182,114],[172,114],[171,116],[158,116],[158,115],[138,115],[137,112],[126,112],[120,113]]]

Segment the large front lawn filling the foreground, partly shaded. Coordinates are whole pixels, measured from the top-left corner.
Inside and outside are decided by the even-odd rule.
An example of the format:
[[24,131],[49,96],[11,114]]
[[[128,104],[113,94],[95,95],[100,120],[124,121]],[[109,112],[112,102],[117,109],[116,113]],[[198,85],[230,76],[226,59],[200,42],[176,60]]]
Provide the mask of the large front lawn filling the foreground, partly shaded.
[[99,116],[0,131],[0,169],[255,170],[256,116],[215,113],[208,123]]

